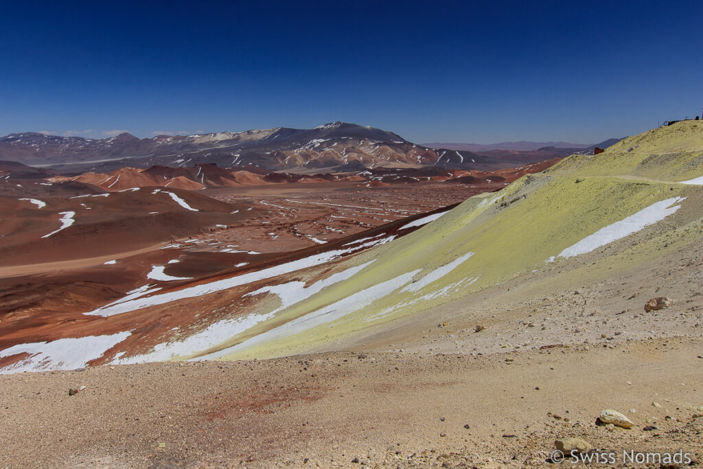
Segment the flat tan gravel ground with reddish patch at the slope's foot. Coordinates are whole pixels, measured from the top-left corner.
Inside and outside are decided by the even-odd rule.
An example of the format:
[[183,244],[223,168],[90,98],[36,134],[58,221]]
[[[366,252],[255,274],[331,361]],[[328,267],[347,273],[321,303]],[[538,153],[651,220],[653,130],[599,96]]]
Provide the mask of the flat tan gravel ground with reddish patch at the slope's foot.
[[[557,467],[565,437],[609,467],[679,467],[622,453],[680,450],[700,466],[702,378],[703,338],[4,375],[0,467]],[[603,409],[634,427],[596,425]]]

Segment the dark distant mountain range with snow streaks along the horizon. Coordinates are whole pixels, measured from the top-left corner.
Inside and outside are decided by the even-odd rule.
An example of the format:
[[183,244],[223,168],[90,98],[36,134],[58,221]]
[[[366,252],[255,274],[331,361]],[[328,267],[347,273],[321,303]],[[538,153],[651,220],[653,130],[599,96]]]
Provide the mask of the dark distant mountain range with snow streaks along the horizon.
[[583,151],[582,148],[565,151],[548,147],[536,153],[481,155],[463,148],[430,148],[390,131],[346,122],[331,122],[314,129],[276,127],[187,136],[159,135],[151,139],[139,139],[127,133],[108,139],[86,139],[34,132],[0,138],[0,160],[50,166],[64,173],[198,164],[224,168],[254,165],[269,171],[303,174],[380,167],[495,170],[562,158],[579,150]]

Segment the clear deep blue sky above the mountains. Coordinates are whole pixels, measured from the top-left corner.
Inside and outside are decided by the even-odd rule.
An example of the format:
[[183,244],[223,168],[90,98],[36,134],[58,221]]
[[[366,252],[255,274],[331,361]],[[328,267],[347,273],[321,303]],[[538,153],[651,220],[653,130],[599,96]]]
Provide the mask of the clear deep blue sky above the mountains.
[[342,120],[594,143],[703,107],[703,1],[4,1],[0,135]]

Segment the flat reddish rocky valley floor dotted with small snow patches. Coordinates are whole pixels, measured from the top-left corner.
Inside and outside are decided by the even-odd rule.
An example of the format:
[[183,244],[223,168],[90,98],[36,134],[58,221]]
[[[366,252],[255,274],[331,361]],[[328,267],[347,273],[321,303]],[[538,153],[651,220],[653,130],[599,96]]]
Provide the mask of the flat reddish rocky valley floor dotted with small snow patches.
[[188,246],[215,252],[230,247],[255,252],[309,248],[502,187],[430,182],[378,188],[330,183],[207,189],[203,193],[217,200],[253,207],[256,215],[243,224],[192,236]]

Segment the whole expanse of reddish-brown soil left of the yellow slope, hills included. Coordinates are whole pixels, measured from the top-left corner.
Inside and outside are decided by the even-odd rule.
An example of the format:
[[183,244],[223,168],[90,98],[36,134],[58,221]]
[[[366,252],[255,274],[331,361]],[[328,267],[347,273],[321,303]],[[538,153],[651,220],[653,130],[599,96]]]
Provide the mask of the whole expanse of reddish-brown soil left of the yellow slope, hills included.
[[[354,239],[380,233],[402,236],[413,231],[398,233],[408,217],[423,217],[471,195],[496,191],[544,165],[500,174],[378,169],[337,179],[284,175],[276,178],[289,182],[248,186],[243,183],[261,183],[271,175],[233,173],[214,165],[126,168],[119,174],[127,185],[139,178],[154,184],[158,176],[188,176],[193,183],[200,171],[200,184],[219,185],[200,191],[172,186],[114,191],[120,184],[115,177],[112,192],[105,192],[90,182],[94,174],[84,175],[84,182],[0,181],[0,349],[132,330],[120,351],[127,356],[147,352],[165,339],[202,330],[203,317],[208,323],[230,317],[233,304],[236,314],[246,314],[254,300],[244,295],[266,281],[208,295],[205,302],[186,299],[177,308],[164,305],[110,317],[83,313],[144,285],[157,285],[163,293],[339,249]],[[236,184],[227,182],[237,177]],[[308,184],[299,184],[302,180]],[[40,208],[20,198],[36,198],[46,205]],[[75,222],[56,231],[64,212],[75,212]],[[154,266],[187,279],[148,278]],[[115,353],[108,351],[102,361]]]

